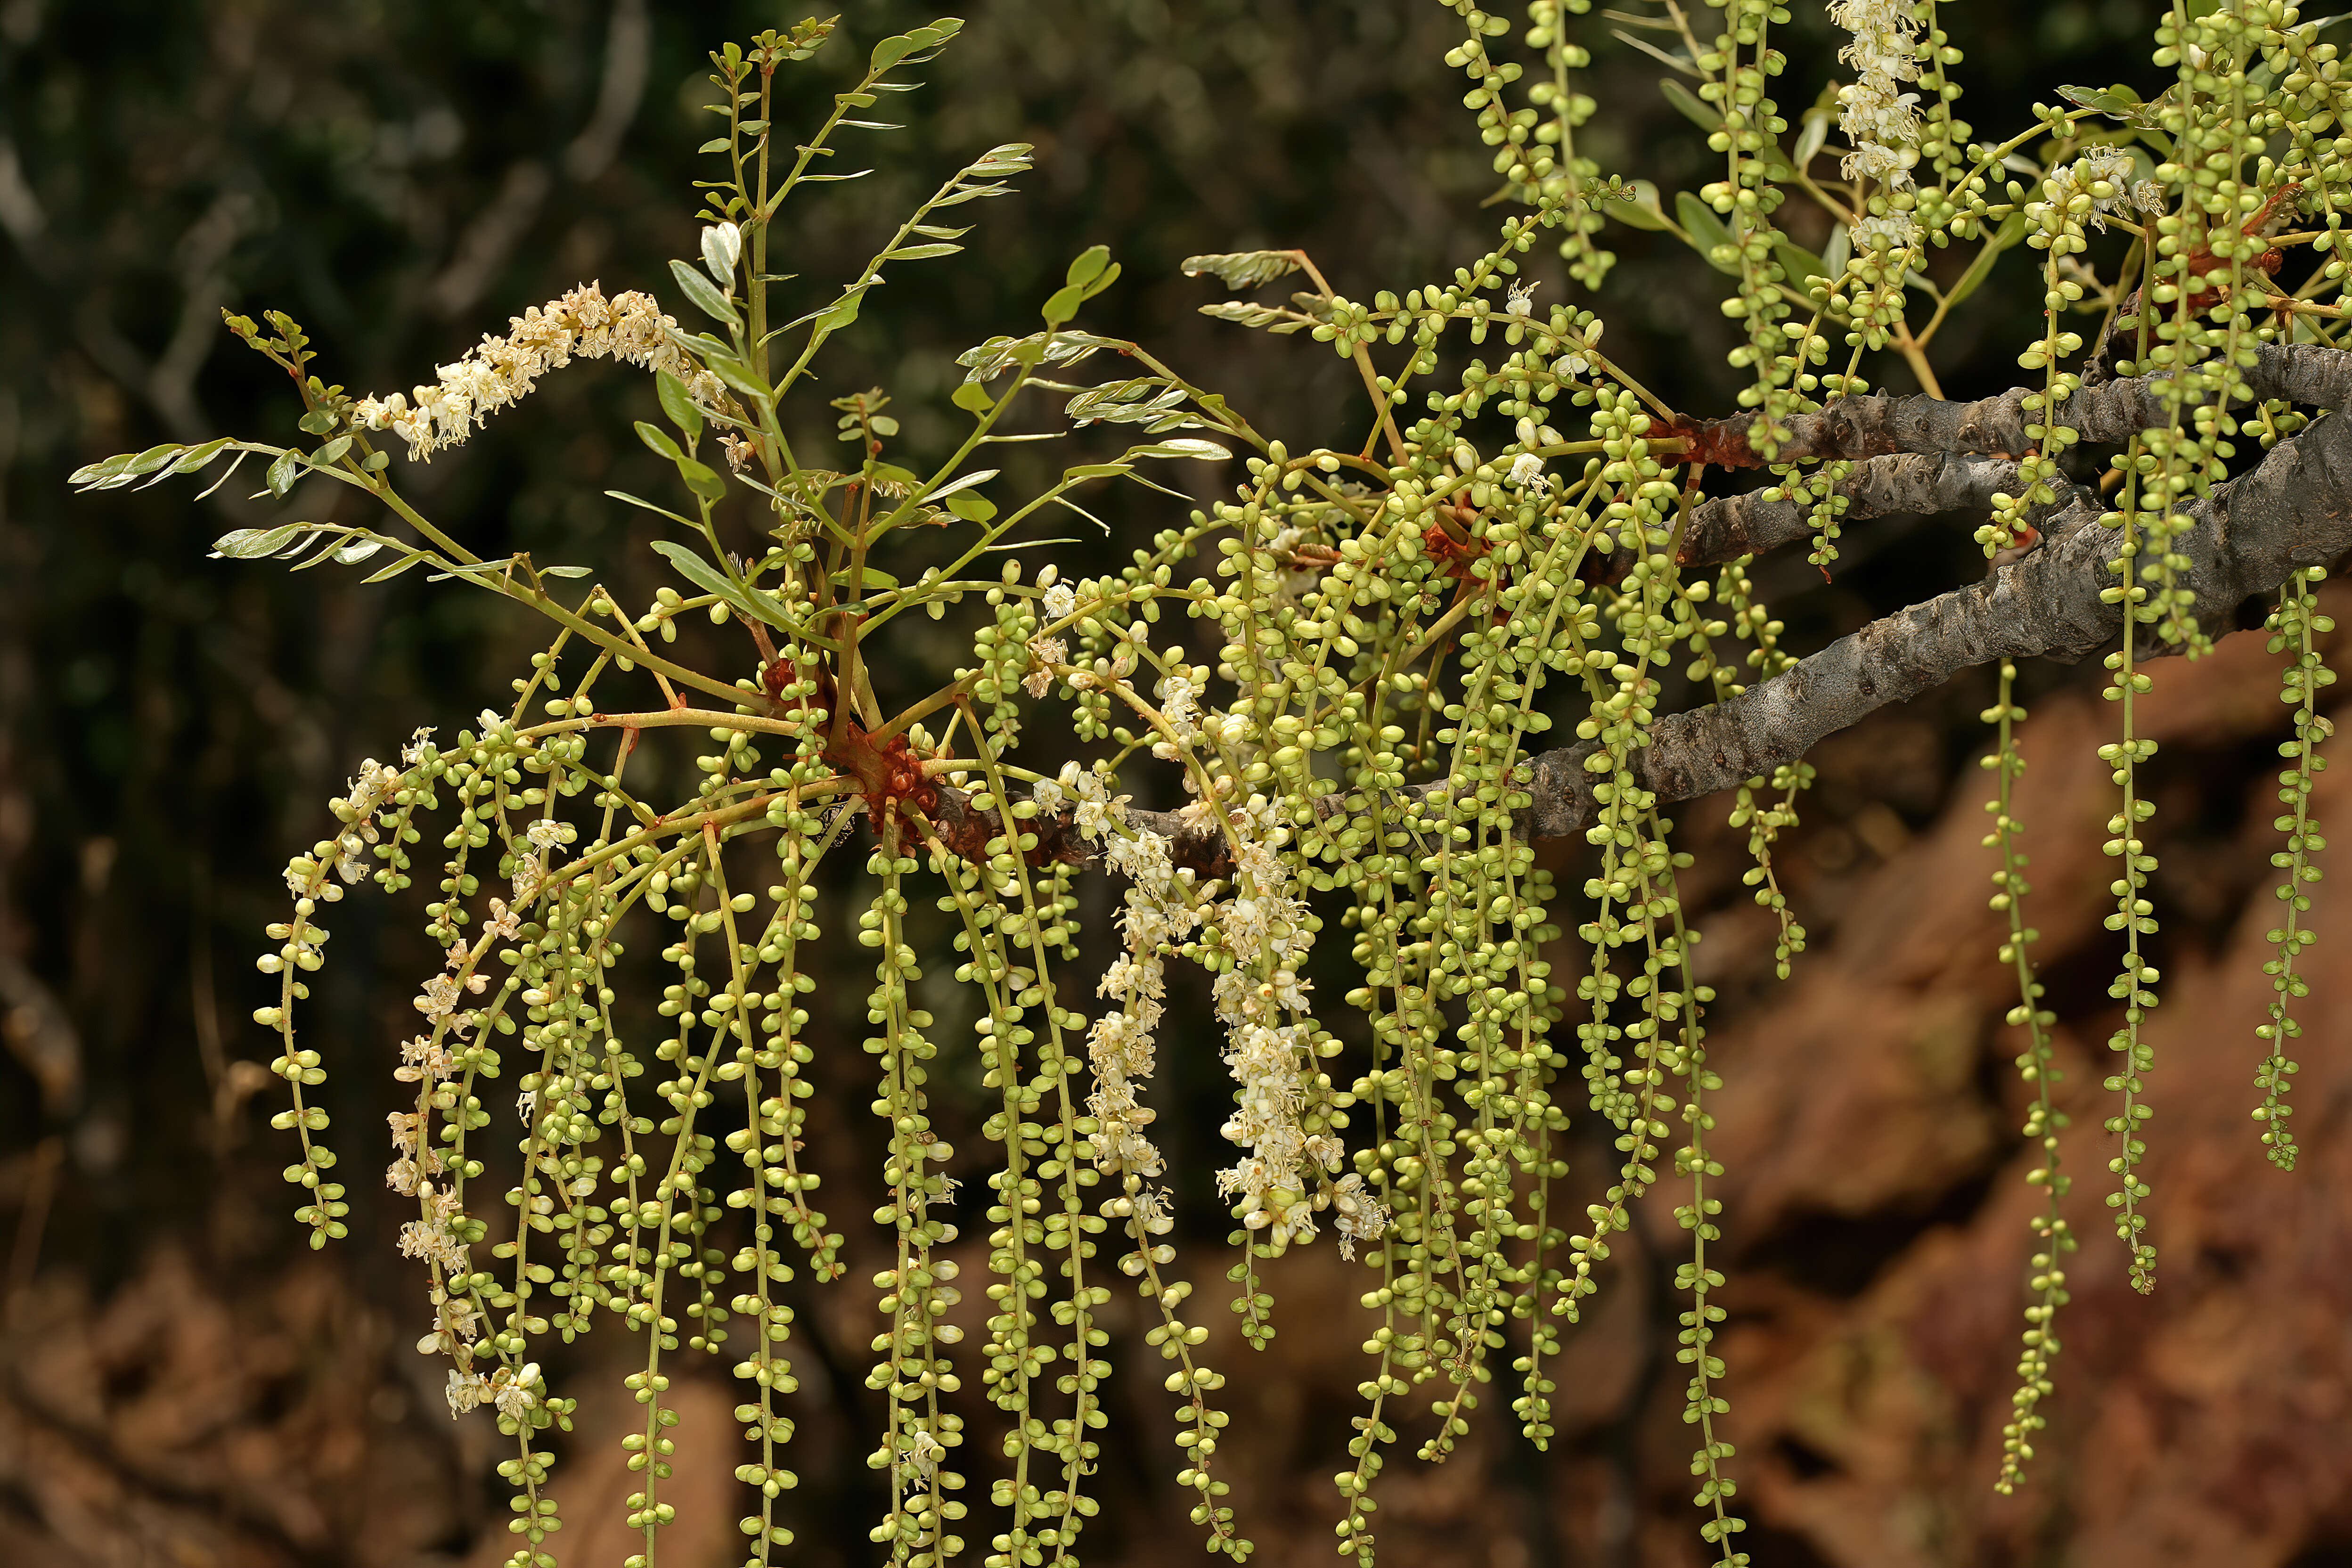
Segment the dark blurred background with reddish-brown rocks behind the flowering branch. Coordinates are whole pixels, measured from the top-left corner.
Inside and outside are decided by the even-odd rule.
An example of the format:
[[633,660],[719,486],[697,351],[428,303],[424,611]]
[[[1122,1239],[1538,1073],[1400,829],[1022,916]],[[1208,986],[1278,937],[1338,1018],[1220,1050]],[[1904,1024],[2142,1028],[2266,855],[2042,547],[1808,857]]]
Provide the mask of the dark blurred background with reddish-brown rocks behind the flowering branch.
[[[1978,134],[2006,132],[2058,82],[2150,89],[2154,14],[2124,0],[1950,7],[1945,26],[1969,52],[1964,115]],[[282,1086],[254,1065],[273,1041],[247,1016],[263,999],[249,959],[280,919],[278,867],[320,835],[327,797],[416,724],[503,705],[536,630],[421,574],[360,588],[360,574],[205,559],[230,527],[318,515],[299,510],[325,503],[308,491],[280,512],[242,498],[249,475],[207,503],[186,482],[75,498],[66,475],[165,440],[294,440],[289,388],[221,331],[221,306],[289,310],[329,381],[395,390],[581,280],[675,296],[666,261],[694,254],[689,181],[706,172],[694,146],[715,134],[699,110],[703,54],[793,19],[647,0],[0,0],[0,1561],[407,1566],[508,1549],[496,1439],[487,1418],[447,1420],[440,1366],[409,1349],[426,1324],[421,1279],[393,1253],[397,1215],[369,1175],[395,1103],[388,1041],[414,976],[435,966],[412,936],[416,912],[369,896],[329,922],[306,1039],[334,1072],[353,1237],[325,1255],[287,1220],[287,1150],[266,1128]],[[779,78],[807,94],[781,118],[811,120],[807,106],[875,38],[927,19],[856,7],[847,38]],[[1152,343],[1294,447],[1355,440],[1352,371],[1315,343],[1200,317],[1221,289],[1178,263],[1301,244],[1341,292],[1369,296],[1484,252],[1494,176],[1461,108],[1465,82],[1439,59],[1458,26],[1428,0],[981,9],[922,71],[927,87],[887,106],[908,129],[847,143],[844,165],[875,174],[807,202],[776,270],[811,289],[856,275],[906,207],[993,143],[1033,141],[1037,169],[1018,195],[957,214],[978,223],[967,256],[906,268],[868,306],[826,367],[826,395],[887,386],[913,449],[936,449],[953,428],[953,355],[1028,329],[1065,261],[1103,242],[1127,273],[1091,327]],[[1719,160],[1611,26],[1578,24],[1602,96],[1581,148],[1668,193],[1712,179]],[[1783,38],[1795,122],[1830,80],[1835,45],[1811,5]],[[1719,280],[1663,235],[1611,242],[1623,256],[1602,299],[1611,348],[1677,407],[1729,411]],[[2011,256],[1940,343],[1950,393],[2009,383],[2037,320],[2027,266]],[[1529,275],[1545,282],[1538,299],[1562,299],[1557,256],[1538,252]],[[1893,362],[1875,374],[1910,390]],[[642,550],[649,534],[602,491],[659,494],[663,475],[628,437],[652,409],[642,376],[574,367],[473,444],[409,470],[412,494],[485,555],[590,564],[642,599],[663,581]],[[1218,477],[1174,482],[1204,496]],[[1124,557],[1176,503],[1127,491],[1101,505],[1112,538],[1070,559]],[[1832,585],[1802,562],[1766,562],[1759,581],[1804,651],[1980,569],[1964,527],[1889,524],[1849,531]],[[913,686],[953,656],[910,639],[903,675]],[[1700,851],[1691,898],[1708,912],[1731,1084],[1717,1135],[1733,1260],[1729,1432],[1745,1544],[1766,1568],[2352,1563],[2352,1154],[2340,1147],[2352,966],[2314,964],[2296,1095],[2307,1157],[2284,1178],[2246,1121],[2274,910],[2265,769],[2284,710],[2258,639],[2159,679],[2143,733],[2164,741],[2152,771],[2169,980],[2152,1157],[2164,1284],[2143,1302],[2122,1286],[2098,1206],[2114,943],[2096,851],[2112,806],[2091,752],[2107,715],[2096,668],[2027,672],[2037,766],[2020,813],[2042,959],[2067,1018],[2067,1095],[2089,1131],[2070,1143],[2084,1251],[2060,1396],[2034,1483],[2011,1500],[1990,1481],[2032,1161],[2016,1138],[2018,1041],[2002,1027],[2013,997],[1983,910],[1992,867],[1973,759],[1990,686],[1955,682],[1820,750],[1809,823],[1783,851],[1816,943],[1785,987],[1738,884],[1724,802],[1682,813]],[[2343,788],[2324,790],[2331,816],[2347,816]],[[1555,865],[1581,884],[1564,849]],[[2314,912],[2328,938],[2352,929],[2338,889],[2324,884]],[[821,994],[854,1006],[854,971],[842,957],[842,983]],[[844,1044],[854,1025],[842,1023]],[[858,1171],[875,1161],[856,1131],[863,1065],[854,1046],[842,1056],[847,1067],[818,1063],[823,1105],[840,1107],[818,1117],[830,1128],[818,1152],[835,1222],[861,1248],[851,1220],[870,1208],[858,1187],[870,1178]],[[1162,1126],[1204,1171],[1221,1072],[1169,1056]],[[1571,1185],[1597,1192],[1609,1164],[1599,1140],[1581,1143]],[[1663,1220],[1661,1208],[1628,1239],[1571,1335],[1552,1453],[1517,1441],[1496,1389],[1451,1465],[1392,1462],[1388,1561],[1698,1561],[1668,1288],[1679,1237],[1658,1232]],[[1190,1206],[1204,1302],[1221,1232],[1223,1215]],[[1225,1455],[1261,1561],[1327,1561],[1329,1476],[1369,1328],[1352,1307],[1362,1274],[1315,1248],[1275,1279],[1282,1335],[1263,1356],[1240,1347],[1221,1307],[1207,1314],[1221,1335],[1211,1361],[1232,1375]],[[873,1300],[844,1284],[800,1307],[795,1561],[866,1563]],[[1200,1547],[1171,1481],[1167,1401],[1141,1387],[1143,1324],[1122,1314],[1124,1302],[1120,1425],[1098,1481],[1110,1502],[1087,1549],[1174,1563]],[[609,1328],[576,1356],[574,1392],[588,1399],[557,1481],[564,1561],[628,1552],[609,1436],[614,1356],[628,1349]],[[663,1561],[731,1561],[731,1394],[722,1375],[691,1378],[680,1403],[689,1465],[670,1495],[687,1521]],[[1406,1427],[1404,1448],[1416,1441]]]

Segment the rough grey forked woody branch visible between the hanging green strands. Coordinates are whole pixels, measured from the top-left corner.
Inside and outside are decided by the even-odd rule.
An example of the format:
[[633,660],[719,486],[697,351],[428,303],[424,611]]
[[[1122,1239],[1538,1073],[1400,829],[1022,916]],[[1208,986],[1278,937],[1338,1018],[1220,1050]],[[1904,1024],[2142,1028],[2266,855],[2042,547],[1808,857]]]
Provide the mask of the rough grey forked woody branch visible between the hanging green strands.
[[[2258,348],[2246,388],[2260,400],[2336,407],[2352,400],[2352,353],[2321,346]],[[2150,423],[2169,423],[2152,376],[2086,388],[2065,404],[2065,421],[2086,440],[2119,442]],[[1849,517],[1884,512],[1987,512],[1994,491],[2013,491],[2016,461],[1971,456],[2023,451],[2023,390],[1978,402],[1940,397],[1853,397],[1797,418],[1806,456],[1865,458],[1839,487]],[[1722,421],[1729,428],[1736,421]],[[1938,447],[1938,442],[1943,447]],[[1919,449],[1926,447],[1926,449]],[[1710,458],[1712,461],[1712,458]],[[1952,675],[1999,658],[2077,661],[2122,637],[2122,604],[2100,595],[2117,581],[2117,536],[2100,522],[2098,494],[2058,480],[2058,503],[2037,508],[2039,550],[1994,569],[1985,581],[1872,621],[1745,693],[1661,717],[1632,771],[1658,804],[1729,790],[1745,778],[1804,757],[1823,738],[1889,703],[1905,703]],[[2281,440],[2249,473],[2183,505],[2192,527],[2176,541],[2190,559],[2183,588],[2194,595],[2209,637],[2237,630],[2239,607],[2274,590],[2288,574],[2352,552],[2352,418],[2333,414]],[[1769,550],[1811,529],[1809,508],[1764,494],[1708,501],[1691,512],[1682,564],[1715,564]],[[2178,654],[2140,632],[2140,658]],[[1583,832],[1595,820],[1585,769],[1595,743],[1543,752],[1526,764],[1531,804],[1522,830],[1538,839]],[[1425,804],[1446,780],[1409,785],[1399,804]],[[941,785],[941,820],[981,830],[969,795]],[[1362,795],[1324,795],[1322,820],[1362,809]],[[993,813],[988,813],[993,818]],[[1230,872],[1223,835],[1197,811],[1129,811],[1129,823],[1167,835],[1176,865],[1202,877]],[[1065,818],[1037,818],[1033,858],[1094,863],[1101,849]]]

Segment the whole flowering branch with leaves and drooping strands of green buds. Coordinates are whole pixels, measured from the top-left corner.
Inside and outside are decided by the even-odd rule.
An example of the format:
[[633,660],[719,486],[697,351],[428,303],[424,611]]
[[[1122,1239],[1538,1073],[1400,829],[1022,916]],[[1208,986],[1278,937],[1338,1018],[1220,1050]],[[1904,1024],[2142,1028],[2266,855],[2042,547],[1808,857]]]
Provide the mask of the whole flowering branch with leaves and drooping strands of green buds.
[[[409,395],[350,397],[313,374],[289,317],[228,317],[292,376],[318,444],[223,437],[78,475],[113,487],[261,454],[273,501],[343,484],[393,522],[240,529],[221,555],[386,557],[376,578],[428,567],[550,625],[508,708],[449,738],[419,731],[332,802],[334,835],[287,867],[292,919],[261,959],[278,992],[254,1013],[280,1041],[287,1180],[318,1246],[353,1204],[325,1140],[325,1063],[301,1034],[322,919],[362,879],[426,882],[430,964],[386,1053],[405,1103],[379,1154],[390,1201],[414,1206],[397,1234],[423,1276],[419,1349],[447,1361],[452,1415],[489,1413],[503,1439],[515,1568],[555,1561],[546,1434],[569,1429],[576,1401],[548,1385],[550,1347],[600,1326],[640,1347],[633,1561],[652,1563],[675,1519],[670,1394],[699,1356],[724,1359],[741,1389],[746,1561],[793,1540],[802,1274],[873,1291],[866,1462],[882,1509],[866,1530],[894,1563],[1091,1549],[1105,1387],[1145,1371],[1112,1359],[1122,1279],[1176,1401],[1190,1519],[1211,1552],[1247,1559],[1221,1465],[1242,1373],[1209,1363],[1190,1305],[1218,1265],[1188,1276],[1176,1251],[1192,1227],[1169,1150],[1185,1140],[1167,1138],[1157,1070],[1183,1034],[1207,1034],[1230,1074],[1221,1168],[1200,1187],[1232,1222],[1221,1267],[1242,1340],[1263,1349],[1279,1331],[1272,1258],[1331,1232],[1362,1267],[1341,1554],[1376,1559],[1395,1450],[1456,1458],[1505,1373],[1522,1434],[1559,1436],[1564,1335],[1623,1288],[1616,1253],[1663,1204],[1689,1248],[1675,1354],[1700,1537],[1738,1568],[1738,1368],[1722,1354],[1738,1220],[1715,1138],[1717,997],[1670,813],[1733,792],[1743,884],[1785,978],[1806,933],[1776,856],[1799,832],[1804,752],[1987,663],[1997,957],[2018,992],[2042,1190],[2020,1380],[1985,1434],[2013,1488],[2058,1392],[2074,1251],[2060,1150],[2089,1145],[2060,1135],[2082,1103],[2060,1091],[2032,964],[2016,661],[2103,654],[2110,670],[2122,966],[2098,1157],[2131,1279],[2152,1288],[2145,1023],[2161,926],[2138,698],[2157,656],[2204,654],[2272,590],[2293,736],[2253,1114],[2270,1159],[2293,1161],[2288,1041],[2333,679],[2314,562],[2352,548],[2352,508],[2296,477],[2305,458],[2338,461],[2343,416],[2314,414],[2352,397],[2343,310],[2324,303],[2352,270],[2352,141],[2331,129],[2352,89],[2333,45],[2277,2],[2166,14],[2159,101],[2067,89],[2072,108],[1980,143],[1955,118],[1962,56],[1933,0],[1837,0],[1856,75],[1835,94],[1849,150],[1828,153],[1832,101],[1792,127],[1771,96],[1788,9],[1611,14],[1696,82],[1675,92],[1719,158],[1665,202],[1604,174],[1590,136],[1578,150],[1602,42],[1581,0],[1534,5],[1517,42],[1510,19],[1451,9],[1463,40],[1446,63],[1501,181],[1482,254],[1369,299],[1298,249],[1185,263],[1235,292],[1308,284],[1207,313],[1329,346],[1371,404],[1359,442],[1294,447],[1148,346],[1080,329],[1120,277],[1103,247],[1070,263],[1035,329],[960,355],[962,423],[943,449],[913,451],[882,390],[804,409],[828,341],[908,268],[962,252],[950,209],[1004,195],[1030,162],[1028,146],[990,148],[856,280],[786,306],[793,280],[769,268],[788,197],[830,179],[816,169],[835,141],[889,129],[866,113],[962,26],[884,38],[847,89],[809,99],[790,68],[835,28],[807,21],[710,56],[727,129],[706,150],[724,169],[703,186],[699,256],[670,268],[706,327],[647,292],[583,284]],[[790,115],[814,125],[771,129]],[[1820,254],[1778,216],[1792,200],[1820,209]],[[1670,233],[1726,280],[1736,411],[1665,404],[1613,357],[1590,296],[1538,292],[1552,254],[1571,289],[1599,287],[1616,221]],[[1945,400],[1936,339],[2020,244],[2032,266],[2011,270],[2044,301],[2016,357],[2030,381]],[[1938,249],[1966,256],[1933,270],[1957,282],[1922,270]],[[583,567],[470,552],[376,440],[430,458],[539,378],[607,357],[652,374],[661,418],[635,433],[677,475],[668,503],[614,491],[661,517],[654,550],[675,578],[635,609]],[[1919,393],[1875,395],[1875,376]],[[1014,501],[990,447],[1033,440],[1018,430],[1042,400],[1129,444]],[[795,447],[804,416],[840,435],[847,456],[826,458],[840,468]],[[1124,564],[1089,576],[1075,555],[1068,574],[1011,555],[1058,510],[1091,517],[1089,487],[1176,494],[1160,463],[1216,468]],[[1724,494],[1740,470],[1769,473]],[[1828,574],[1846,529],[1905,512],[1957,515],[1992,574],[1799,656],[1752,557],[1802,541]],[[927,675],[889,642],[913,614],[953,618],[953,670]],[[680,639],[694,618],[713,637]],[[1035,736],[1063,729],[1082,759],[1042,766]],[[1089,877],[1117,886],[1098,931],[1080,919]],[[847,999],[818,994],[835,950],[870,971]],[[1185,969],[1207,1030],[1178,1011]],[[816,1084],[851,1072],[882,1161],[818,1171]],[[1609,1147],[1599,1168],[1569,1166],[1578,1117]],[[868,1222],[835,1229],[816,1206],[828,1185]]]

